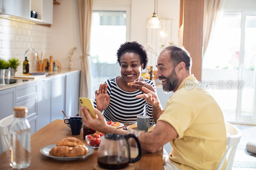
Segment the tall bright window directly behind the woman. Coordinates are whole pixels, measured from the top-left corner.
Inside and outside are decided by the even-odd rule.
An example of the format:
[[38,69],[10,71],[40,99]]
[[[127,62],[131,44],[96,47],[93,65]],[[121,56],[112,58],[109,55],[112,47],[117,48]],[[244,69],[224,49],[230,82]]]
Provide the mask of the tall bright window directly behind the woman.
[[109,78],[120,75],[116,51],[129,41],[130,8],[96,7],[92,11],[90,59],[92,98],[94,91]]

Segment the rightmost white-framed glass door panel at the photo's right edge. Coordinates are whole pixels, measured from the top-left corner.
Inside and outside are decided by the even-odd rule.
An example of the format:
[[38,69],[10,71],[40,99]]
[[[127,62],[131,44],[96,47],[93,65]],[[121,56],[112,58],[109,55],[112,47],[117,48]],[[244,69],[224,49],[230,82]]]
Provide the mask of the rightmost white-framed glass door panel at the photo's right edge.
[[256,11],[242,11],[236,121],[255,122]]

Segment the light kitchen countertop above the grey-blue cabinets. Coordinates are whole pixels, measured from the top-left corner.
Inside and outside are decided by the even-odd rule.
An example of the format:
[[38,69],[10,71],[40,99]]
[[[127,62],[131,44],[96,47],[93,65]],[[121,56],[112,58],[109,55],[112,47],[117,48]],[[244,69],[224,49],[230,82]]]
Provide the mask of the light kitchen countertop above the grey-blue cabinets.
[[51,75],[47,75],[45,78],[42,78],[42,79],[26,79],[26,78],[13,78],[13,76],[11,76],[11,79],[23,79],[23,80],[28,80],[28,81],[24,81],[24,82],[18,82],[18,83],[13,83],[13,84],[0,84],[0,91],[1,90],[5,90],[5,89],[9,89],[9,88],[12,88],[12,87],[16,87],[16,86],[20,86],[20,85],[25,85],[25,84],[29,84],[29,83],[34,83],[34,82],[37,82],[37,81],[41,81],[41,80],[46,80],[46,79],[51,79],[51,78],[54,78],[54,77],[58,77],[58,76],[63,76],[65,74],[70,74],[70,73],[75,73],[75,72],[78,72],[80,70],[62,70],[62,71],[59,71],[58,73],[53,73]]

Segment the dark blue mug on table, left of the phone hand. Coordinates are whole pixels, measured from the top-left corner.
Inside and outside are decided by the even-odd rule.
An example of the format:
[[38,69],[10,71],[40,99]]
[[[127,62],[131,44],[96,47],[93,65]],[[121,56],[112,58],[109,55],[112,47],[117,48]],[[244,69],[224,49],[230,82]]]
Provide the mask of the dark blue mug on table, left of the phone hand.
[[65,119],[64,122],[70,125],[72,135],[80,135],[83,124],[81,117],[70,117],[69,119]]

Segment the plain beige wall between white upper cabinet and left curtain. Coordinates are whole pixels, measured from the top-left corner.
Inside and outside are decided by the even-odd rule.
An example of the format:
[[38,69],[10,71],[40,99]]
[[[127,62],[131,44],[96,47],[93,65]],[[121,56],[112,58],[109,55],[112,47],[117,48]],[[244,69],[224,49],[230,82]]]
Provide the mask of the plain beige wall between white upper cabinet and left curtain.
[[58,0],[60,5],[53,5],[53,23],[51,26],[51,48],[53,59],[58,60],[61,68],[68,69],[68,56],[72,48],[77,48],[77,54],[72,59],[74,68],[81,68],[82,55],[79,37],[77,0]]

